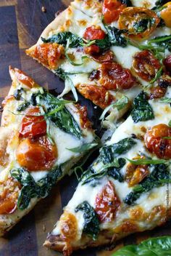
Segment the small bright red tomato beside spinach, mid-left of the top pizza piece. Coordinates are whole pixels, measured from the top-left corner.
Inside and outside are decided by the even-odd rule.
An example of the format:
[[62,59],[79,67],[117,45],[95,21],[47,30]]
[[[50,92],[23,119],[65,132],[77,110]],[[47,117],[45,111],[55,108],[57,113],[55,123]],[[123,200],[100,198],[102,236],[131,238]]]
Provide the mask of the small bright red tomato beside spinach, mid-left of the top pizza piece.
[[86,28],[86,31],[83,34],[83,38],[86,40],[104,39],[105,36],[106,33],[101,29],[99,25],[92,25],[91,27]]

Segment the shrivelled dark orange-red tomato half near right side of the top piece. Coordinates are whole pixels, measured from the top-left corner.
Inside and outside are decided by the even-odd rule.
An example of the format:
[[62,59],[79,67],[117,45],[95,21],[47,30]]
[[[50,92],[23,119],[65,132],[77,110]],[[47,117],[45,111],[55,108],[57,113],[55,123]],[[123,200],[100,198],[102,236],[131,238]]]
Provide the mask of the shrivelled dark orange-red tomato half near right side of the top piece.
[[160,67],[159,60],[148,50],[137,52],[133,56],[133,71],[145,81],[154,79]]

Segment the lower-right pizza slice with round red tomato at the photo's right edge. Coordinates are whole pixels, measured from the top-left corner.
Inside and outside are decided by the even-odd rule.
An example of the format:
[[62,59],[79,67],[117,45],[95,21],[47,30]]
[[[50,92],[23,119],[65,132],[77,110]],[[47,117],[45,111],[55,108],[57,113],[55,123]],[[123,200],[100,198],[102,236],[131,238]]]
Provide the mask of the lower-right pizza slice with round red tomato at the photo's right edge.
[[[171,88],[140,92],[128,119],[99,151],[44,245],[73,250],[113,244],[171,217]],[[91,195],[91,196],[89,196]]]

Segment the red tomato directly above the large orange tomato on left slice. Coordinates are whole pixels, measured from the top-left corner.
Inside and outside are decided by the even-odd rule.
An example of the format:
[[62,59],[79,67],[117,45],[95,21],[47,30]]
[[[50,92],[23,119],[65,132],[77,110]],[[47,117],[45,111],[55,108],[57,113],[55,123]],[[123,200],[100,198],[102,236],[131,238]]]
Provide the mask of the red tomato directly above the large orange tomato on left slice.
[[[37,115],[37,116],[36,116]],[[38,137],[46,135],[46,121],[40,115],[38,107],[31,107],[25,113],[20,127],[20,137]]]

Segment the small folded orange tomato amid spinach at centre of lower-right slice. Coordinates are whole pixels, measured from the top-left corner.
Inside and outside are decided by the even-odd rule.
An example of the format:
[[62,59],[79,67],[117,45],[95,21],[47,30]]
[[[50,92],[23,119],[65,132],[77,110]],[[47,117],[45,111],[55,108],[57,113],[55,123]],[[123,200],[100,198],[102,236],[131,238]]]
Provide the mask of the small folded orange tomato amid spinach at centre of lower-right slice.
[[149,175],[149,170],[146,164],[128,164],[125,180],[128,182],[129,187],[133,187],[134,185],[140,183],[147,175]]

